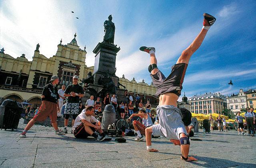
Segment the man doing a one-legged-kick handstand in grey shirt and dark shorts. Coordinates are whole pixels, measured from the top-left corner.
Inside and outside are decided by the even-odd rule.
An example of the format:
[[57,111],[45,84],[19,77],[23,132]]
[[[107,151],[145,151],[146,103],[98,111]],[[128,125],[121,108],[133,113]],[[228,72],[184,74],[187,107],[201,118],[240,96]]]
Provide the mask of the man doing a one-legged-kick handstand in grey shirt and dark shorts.
[[194,39],[194,41],[182,51],[178,61],[172,66],[172,72],[166,78],[164,74],[157,67],[157,60],[154,47],[140,47],[141,51],[149,53],[150,65],[148,71],[156,87],[156,96],[159,96],[159,105],[157,107],[157,116],[159,117],[159,124],[146,128],[146,147],[149,152],[158,152],[157,149],[152,148],[151,135],[165,136],[170,139],[174,145],[180,145],[180,158],[186,161],[197,161],[196,158],[188,156],[190,141],[182,122],[180,109],[177,108],[177,100],[181,94],[182,83],[188,66],[188,62],[192,54],[202,44],[208,29],[215,22],[216,18],[209,14],[203,14],[203,27]]

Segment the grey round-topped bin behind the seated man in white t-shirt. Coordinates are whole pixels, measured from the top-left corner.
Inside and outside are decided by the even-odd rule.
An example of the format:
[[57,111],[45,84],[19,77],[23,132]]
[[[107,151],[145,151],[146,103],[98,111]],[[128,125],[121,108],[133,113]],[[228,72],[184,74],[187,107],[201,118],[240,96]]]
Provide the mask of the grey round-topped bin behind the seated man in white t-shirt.
[[114,106],[111,104],[106,105],[102,113],[102,125],[101,129],[108,129],[108,125],[115,123],[116,121],[116,111]]

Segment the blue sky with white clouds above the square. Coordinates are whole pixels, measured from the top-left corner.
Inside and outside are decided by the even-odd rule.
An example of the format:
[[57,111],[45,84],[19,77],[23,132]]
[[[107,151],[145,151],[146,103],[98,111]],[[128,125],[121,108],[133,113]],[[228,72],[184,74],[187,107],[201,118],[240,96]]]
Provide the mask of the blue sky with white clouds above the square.
[[[202,14],[217,21],[190,60],[183,90],[187,97],[205,92],[236,93],[256,88],[256,1],[0,1],[0,48],[12,57],[32,60],[36,44],[46,57],[57,45],[77,34],[86,45],[86,65],[94,65],[94,47],[104,36],[103,22],[112,14],[116,25],[116,75],[151,83],[149,57],[138,49],[156,47],[158,67],[168,76],[170,67],[202,28]],[[71,11],[75,13],[72,14]],[[78,17],[77,20],[75,17]],[[232,79],[234,86],[228,85]]]

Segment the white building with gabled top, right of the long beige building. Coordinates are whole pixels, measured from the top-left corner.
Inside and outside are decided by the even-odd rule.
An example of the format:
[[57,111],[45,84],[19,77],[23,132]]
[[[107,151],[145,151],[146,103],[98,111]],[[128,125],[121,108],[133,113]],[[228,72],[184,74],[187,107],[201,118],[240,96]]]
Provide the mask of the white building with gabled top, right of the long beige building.
[[240,89],[238,94],[226,97],[228,109],[234,113],[248,107],[246,93]]

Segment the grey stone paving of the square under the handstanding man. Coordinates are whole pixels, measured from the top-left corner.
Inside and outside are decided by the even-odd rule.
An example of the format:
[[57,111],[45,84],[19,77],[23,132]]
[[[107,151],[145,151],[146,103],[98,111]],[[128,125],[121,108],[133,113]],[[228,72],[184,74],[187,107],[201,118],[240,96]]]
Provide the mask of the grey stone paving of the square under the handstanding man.
[[[0,131],[0,167],[256,167],[256,137],[238,135],[237,131],[198,133],[191,139],[190,155],[198,162],[180,159],[180,147],[167,139],[152,139],[159,152],[146,152],[145,140],[125,137],[126,143],[96,142],[92,138],[76,139],[72,134],[56,135],[52,127],[34,125],[27,137],[18,131]],[[69,128],[70,131],[70,128]],[[202,131],[202,130],[201,130]]]

